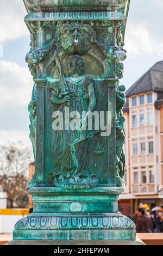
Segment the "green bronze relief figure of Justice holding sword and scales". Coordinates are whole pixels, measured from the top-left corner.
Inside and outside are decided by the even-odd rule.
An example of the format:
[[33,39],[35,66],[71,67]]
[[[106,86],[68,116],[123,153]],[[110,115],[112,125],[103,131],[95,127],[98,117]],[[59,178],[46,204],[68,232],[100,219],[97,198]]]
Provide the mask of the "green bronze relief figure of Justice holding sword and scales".
[[[88,188],[93,182],[97,182],[96,175],[90,176],[87,168],[87,146],[93,131],[87,131],[82,127],[86,126],[89,112],[96,107],[95,82],[92,77],[84,75],[84,62],[79,55],[70,57],[69,72],[70,77],[65,78],[64,86],[60,84],[59,88],[58,84],[54,84],[49,100],[60,105],[59,111],[63,114],[69,107],[70,123],[71,113],[78,113],[80,121],[75,124],[76,129],[70,127],[69,130],[55,131],[55,154],[49,176],[54,179],[57,186]],[[62,77],[59,83],[63,81]]]

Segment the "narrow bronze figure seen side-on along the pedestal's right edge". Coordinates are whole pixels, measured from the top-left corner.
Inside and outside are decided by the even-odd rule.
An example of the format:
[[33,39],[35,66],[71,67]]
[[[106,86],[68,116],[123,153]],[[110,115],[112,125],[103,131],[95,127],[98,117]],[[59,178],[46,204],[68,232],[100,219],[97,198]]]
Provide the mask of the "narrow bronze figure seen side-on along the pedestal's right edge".
[[126,103],[125,86],[116,86],[116,170],[117,170],[117,186],[123,186],[124,171],[126,158],[124,154],[124,122],[122,108]]

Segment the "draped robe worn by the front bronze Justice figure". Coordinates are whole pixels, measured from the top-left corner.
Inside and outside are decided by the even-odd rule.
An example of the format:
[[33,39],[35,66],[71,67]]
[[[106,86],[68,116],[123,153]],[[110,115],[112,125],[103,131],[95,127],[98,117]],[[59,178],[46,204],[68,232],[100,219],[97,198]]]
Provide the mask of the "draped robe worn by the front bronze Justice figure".
[[[91,86],[92,90],[91,95],[94,97],[92,100],[96,104],[95,82],[88,76],[79,76],[77,78],[68,77],[66,78],[66,82],[71,99],[69,111],[70,113],[77,111],[80,117],[82,117],[83,112],[86,113],[89,110],[89,104],[91,102],[91,96],[88,92],[89,86]],[[55,83],[53,94],[58,97],[59,93],[59,83]],[[67,108],[67,105],[61,104],[58,111],[65,115],[65,108]],[[64,119],[66,119],[65,116]],[[60,175],[64,176],[64,178],[74,178],[76,175],[89,178],[89,170],[87,169],[87,145],[89,138],[92,136],[92,131],[88,131],[87,129],[55,131],[54,156],[49,174],[53,178],[54,176],[59,177]]]

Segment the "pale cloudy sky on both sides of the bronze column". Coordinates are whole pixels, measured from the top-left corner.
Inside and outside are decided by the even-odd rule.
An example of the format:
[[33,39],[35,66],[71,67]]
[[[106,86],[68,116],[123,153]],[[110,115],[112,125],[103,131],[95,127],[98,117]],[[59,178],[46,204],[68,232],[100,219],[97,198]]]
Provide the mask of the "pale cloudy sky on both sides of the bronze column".
[[[163,59],[162,13],[163,0],[131,0],[122,80],[127,88]],[[33,80],[24,60],[30,48],[25,15],[23,0],[0,0],[0,144],[30,145],[27,106]]]

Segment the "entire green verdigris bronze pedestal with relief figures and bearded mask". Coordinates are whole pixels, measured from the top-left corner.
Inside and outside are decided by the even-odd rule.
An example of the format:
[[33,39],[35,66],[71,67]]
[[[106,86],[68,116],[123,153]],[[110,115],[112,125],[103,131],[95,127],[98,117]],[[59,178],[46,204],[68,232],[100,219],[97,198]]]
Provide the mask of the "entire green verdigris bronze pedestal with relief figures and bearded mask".
[[24,0],[34,212],[14,240],[135,240],[124,187],[124,32],[129,0]]

